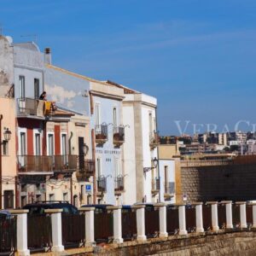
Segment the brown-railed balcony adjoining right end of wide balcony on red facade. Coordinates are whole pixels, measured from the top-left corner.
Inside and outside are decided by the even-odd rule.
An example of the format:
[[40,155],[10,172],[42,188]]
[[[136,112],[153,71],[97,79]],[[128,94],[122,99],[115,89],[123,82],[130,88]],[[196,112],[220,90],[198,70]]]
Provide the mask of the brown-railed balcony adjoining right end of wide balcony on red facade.
[[78,157],[73,154],[53,155],[54,172],[75,172],[78,168]]

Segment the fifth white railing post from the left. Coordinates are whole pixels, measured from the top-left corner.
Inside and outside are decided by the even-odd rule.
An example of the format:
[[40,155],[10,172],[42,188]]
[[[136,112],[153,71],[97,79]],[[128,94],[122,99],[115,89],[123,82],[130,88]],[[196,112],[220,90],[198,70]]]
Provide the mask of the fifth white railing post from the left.
[[137,219],[137,241],[146,241],[147,236],[145,236],[145,205],[132,206],[136,209],[136,219]]

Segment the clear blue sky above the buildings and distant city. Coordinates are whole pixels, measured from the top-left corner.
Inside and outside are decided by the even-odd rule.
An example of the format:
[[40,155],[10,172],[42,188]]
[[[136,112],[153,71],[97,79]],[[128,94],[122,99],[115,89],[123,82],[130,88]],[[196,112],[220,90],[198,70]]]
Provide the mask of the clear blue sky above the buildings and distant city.
[[0,23],[57,66],[156,96],[161,134],[256,123],[254,0],[0,0]]

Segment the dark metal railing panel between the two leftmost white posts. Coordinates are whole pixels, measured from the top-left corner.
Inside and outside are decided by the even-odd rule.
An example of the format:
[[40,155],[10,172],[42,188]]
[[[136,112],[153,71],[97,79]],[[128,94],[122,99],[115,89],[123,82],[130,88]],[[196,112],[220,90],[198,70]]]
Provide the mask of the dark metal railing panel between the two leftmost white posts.
[[38,249],[52,245],[51,220],[48,214],[27,216],[27,247]]

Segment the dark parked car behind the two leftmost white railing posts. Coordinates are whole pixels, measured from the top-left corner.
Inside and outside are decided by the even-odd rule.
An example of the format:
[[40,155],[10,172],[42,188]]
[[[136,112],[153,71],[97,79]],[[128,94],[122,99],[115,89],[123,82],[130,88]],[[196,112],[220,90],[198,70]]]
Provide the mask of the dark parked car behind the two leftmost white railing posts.
[[29,210],[28,214],[44,214],[45,209],[63,209],[63,214],[79,214],[77,207],[67,201],[37,201],[27,204],[23,209]]

